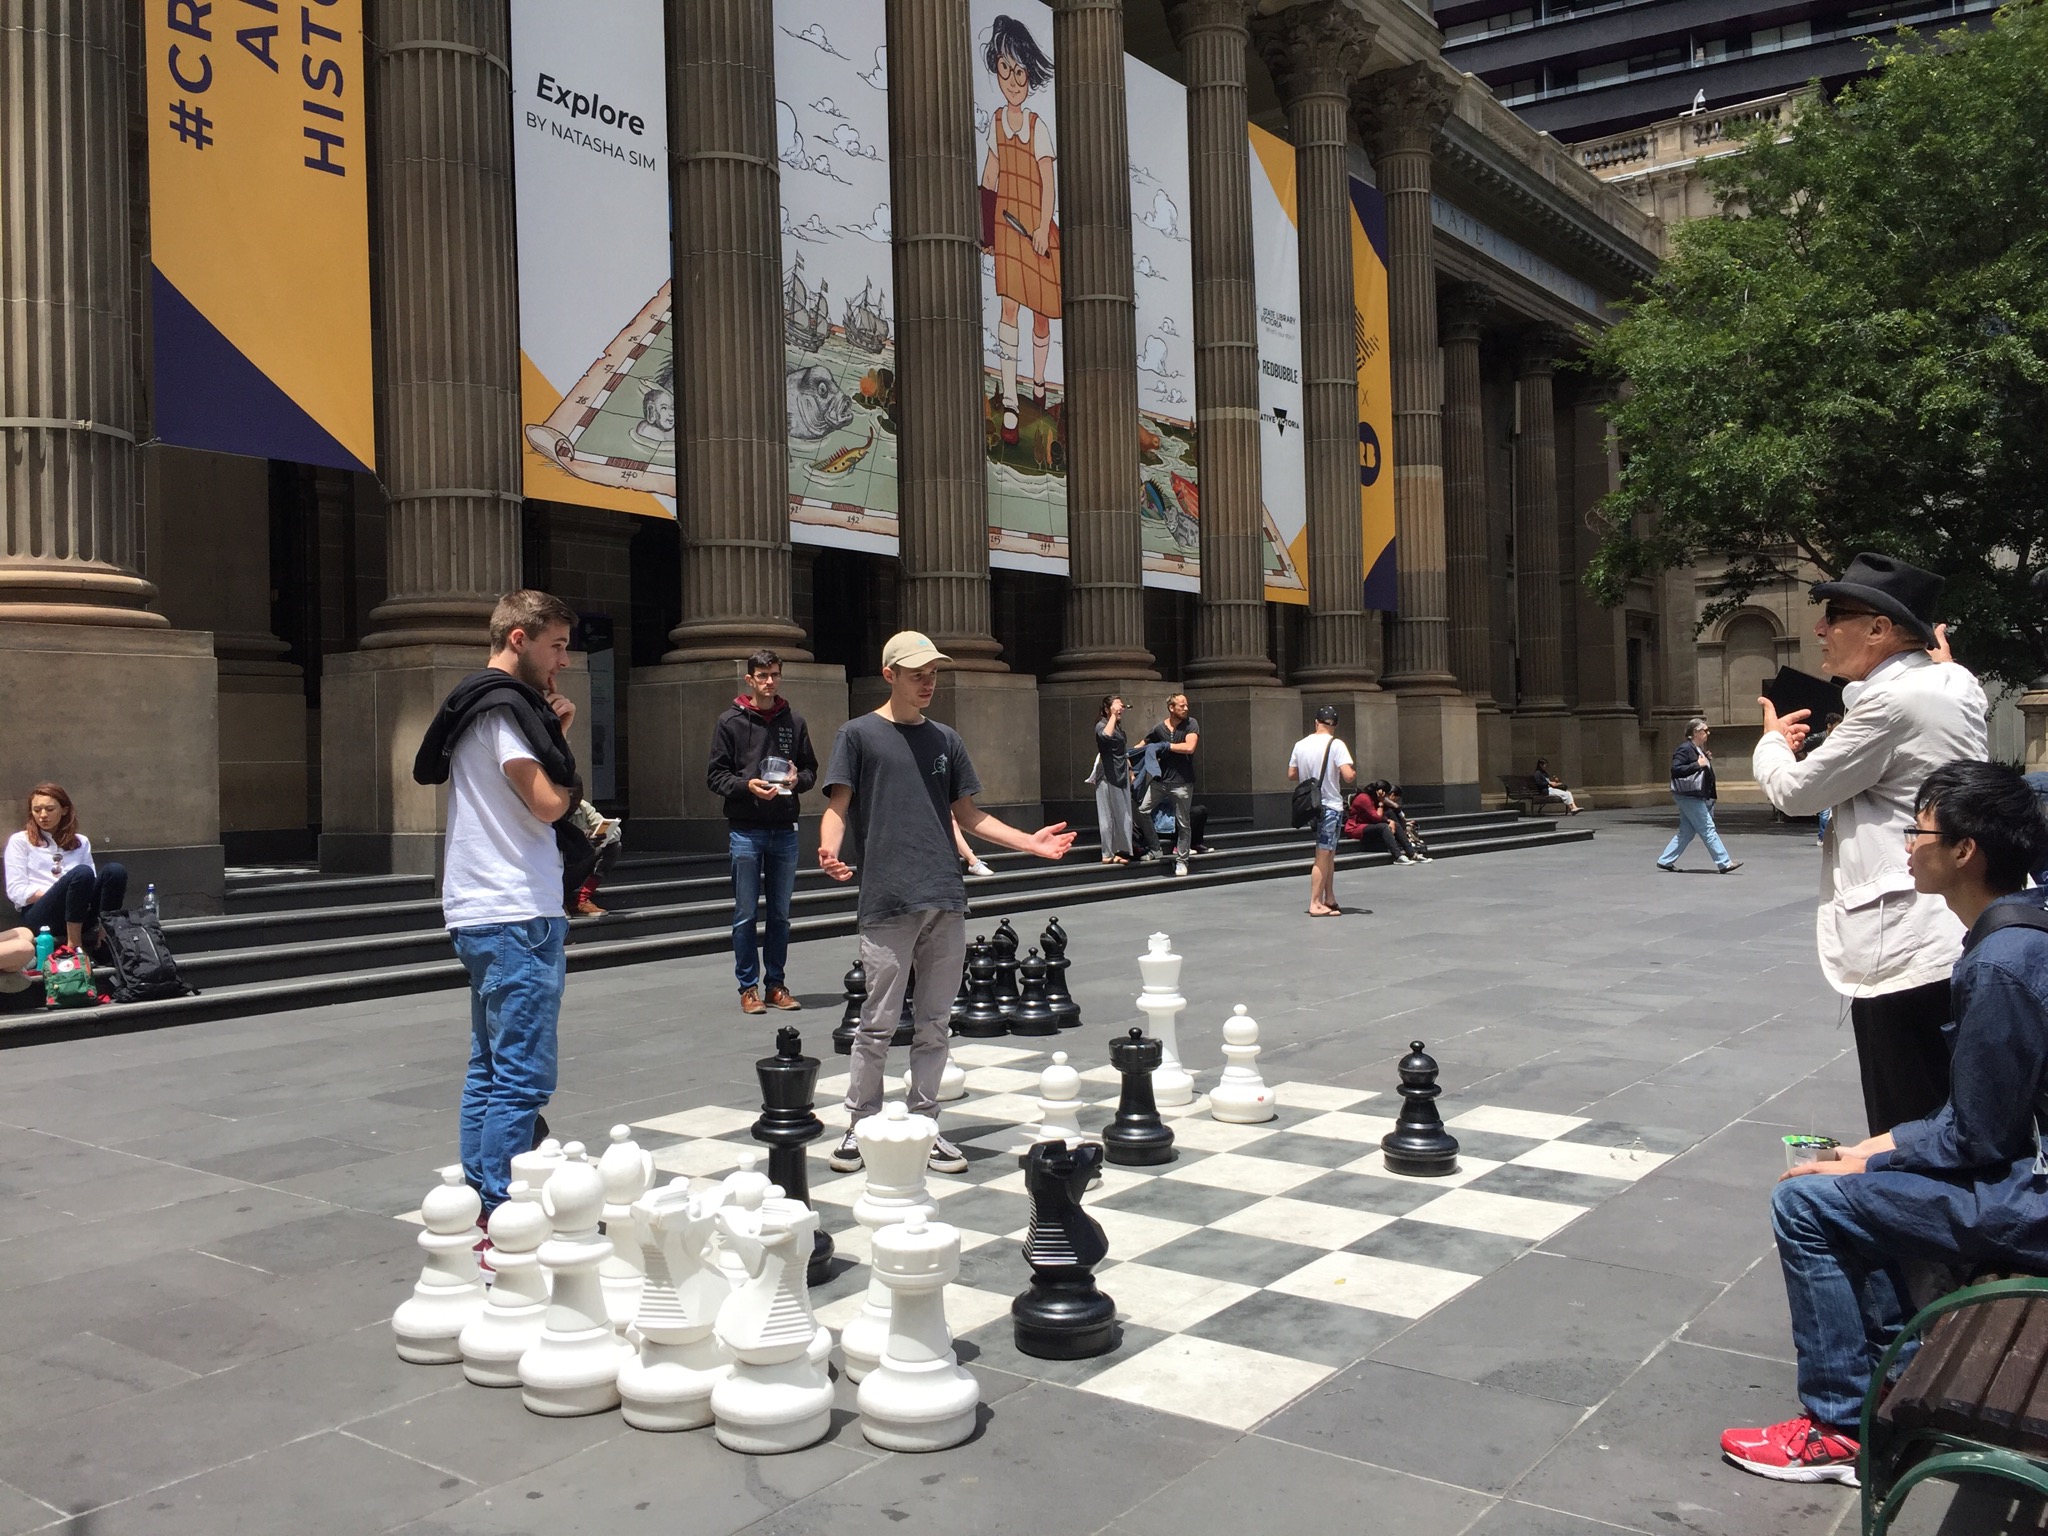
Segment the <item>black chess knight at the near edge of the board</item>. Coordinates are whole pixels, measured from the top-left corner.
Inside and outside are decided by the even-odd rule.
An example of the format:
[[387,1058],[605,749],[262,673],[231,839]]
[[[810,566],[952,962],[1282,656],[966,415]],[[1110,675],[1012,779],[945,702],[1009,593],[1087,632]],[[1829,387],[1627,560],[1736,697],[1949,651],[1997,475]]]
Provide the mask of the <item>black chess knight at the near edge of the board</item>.
[[1116,1303],[1096,1288],[1110,1251],[1102,1225],[1081,1210],[1081,1192],[1102,1167],[1102,1147],[1040,1141],[1024,1159],[1030,1288],[1010,1303],[1018,1350],[1038,1360],[1087,1360],[1120,1341]]

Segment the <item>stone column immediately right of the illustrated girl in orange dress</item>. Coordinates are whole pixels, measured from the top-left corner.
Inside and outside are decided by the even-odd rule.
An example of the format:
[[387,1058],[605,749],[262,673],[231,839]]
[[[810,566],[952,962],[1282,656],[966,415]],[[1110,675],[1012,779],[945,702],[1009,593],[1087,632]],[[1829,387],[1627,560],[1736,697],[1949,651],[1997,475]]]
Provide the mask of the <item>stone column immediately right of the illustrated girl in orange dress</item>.
[[1159,680],[1145,649],[1124,0],[1055,0],[1053,55],[1071,586],[1065,647],[1038,688],[1038,782],[1049,815],[1085,825],[1085,741],[1102,694],[1133,698]]

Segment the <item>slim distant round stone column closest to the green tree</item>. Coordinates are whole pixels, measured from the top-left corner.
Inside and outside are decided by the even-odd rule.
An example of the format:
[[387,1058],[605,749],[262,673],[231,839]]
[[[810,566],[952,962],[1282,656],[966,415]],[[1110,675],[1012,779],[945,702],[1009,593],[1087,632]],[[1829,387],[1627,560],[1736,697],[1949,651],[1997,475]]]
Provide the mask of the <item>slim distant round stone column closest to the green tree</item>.
[[1563,776],[1565,666],[1556,590],[1556,426],[1552,371],[1567,336],[1532,326],[1516,352],[1516,758],[1550,758]]

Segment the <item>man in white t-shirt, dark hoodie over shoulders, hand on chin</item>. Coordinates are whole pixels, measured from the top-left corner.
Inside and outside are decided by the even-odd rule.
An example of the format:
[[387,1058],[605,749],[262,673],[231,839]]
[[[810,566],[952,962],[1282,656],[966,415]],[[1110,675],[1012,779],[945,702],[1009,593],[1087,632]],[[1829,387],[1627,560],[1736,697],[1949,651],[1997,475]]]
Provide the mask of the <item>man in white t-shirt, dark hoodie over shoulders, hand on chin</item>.
[[463,1171],[485,1217],[555,1094],[569,934],[555,823],[582,797],[565,737],[575,705],[555,676],[573,623],[547,592],[500,598],[489,664],[455,684],[414,762],[422,784],[449,784],[440,909],[469,971]]

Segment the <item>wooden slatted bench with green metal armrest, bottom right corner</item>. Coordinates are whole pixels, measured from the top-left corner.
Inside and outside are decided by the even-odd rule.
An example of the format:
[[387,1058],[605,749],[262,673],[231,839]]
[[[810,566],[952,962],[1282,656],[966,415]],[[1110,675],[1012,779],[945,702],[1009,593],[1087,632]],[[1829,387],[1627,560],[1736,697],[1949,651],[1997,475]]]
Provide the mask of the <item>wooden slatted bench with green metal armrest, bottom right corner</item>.
[[1864,1536],[1888,1532],[1927,1479],[2001,1479],[2048,1499],[2048,1280],[1987,1280],[1923,1307],[1872,1372],[1862,1442]]

